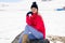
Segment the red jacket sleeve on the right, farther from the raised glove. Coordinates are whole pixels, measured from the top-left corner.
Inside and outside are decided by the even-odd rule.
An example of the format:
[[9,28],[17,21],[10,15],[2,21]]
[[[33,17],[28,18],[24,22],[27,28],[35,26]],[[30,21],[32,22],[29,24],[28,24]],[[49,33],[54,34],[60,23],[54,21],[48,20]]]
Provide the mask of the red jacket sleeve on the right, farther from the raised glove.
[[43,33],[43,38],[46,39],[46,28],[42,17],[38,16],[37,28]]

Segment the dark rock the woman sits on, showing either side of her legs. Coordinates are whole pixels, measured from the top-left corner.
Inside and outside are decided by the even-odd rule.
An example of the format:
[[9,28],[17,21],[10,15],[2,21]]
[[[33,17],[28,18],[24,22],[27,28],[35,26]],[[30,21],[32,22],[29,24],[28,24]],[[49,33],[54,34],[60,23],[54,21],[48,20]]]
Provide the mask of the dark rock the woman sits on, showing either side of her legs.
[[[18,43],[18,39],[22,32],[12,41],[12,43]],[[29,43],[50,43],[48,39],[46,40],[29,40]]]

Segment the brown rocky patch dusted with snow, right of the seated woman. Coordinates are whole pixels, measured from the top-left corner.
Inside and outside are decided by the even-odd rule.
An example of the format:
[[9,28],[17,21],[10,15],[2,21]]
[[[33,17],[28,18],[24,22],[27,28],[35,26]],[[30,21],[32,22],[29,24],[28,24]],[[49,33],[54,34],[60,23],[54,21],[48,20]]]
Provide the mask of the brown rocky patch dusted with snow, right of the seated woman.
[[49,38],[50,41],[57,43],[57,42],[62,42],[65,43],[65,37],[60,37],[60,35],[47,35]]

